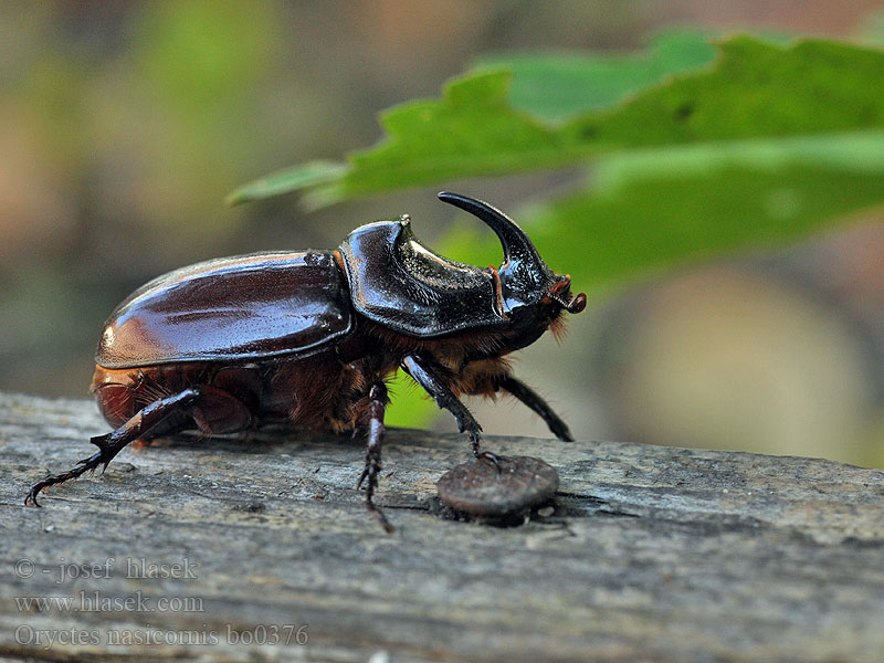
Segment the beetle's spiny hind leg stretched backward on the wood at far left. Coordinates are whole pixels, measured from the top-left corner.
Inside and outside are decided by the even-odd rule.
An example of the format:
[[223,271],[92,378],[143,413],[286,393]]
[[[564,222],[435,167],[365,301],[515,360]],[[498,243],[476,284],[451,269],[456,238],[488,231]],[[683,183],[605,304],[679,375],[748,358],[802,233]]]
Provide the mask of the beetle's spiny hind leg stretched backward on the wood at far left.
[[160,398],[149,406],[143,408],[131,419],[129,419],[122,427],[105,435],[97,435],[92,438],[90,442],[98,448],[98,452],[87,459],[80,461],[74,467],[67,472],[49,476],[43,481],[35,483],[24,498],[24,504],[33,504],[40,506],[36,496],[43,488],[49,486],[76,478],[86,472],[94,472],[98,465],[104,465],[107,469],[108,463],[114,460],[123,449],[129,443],[134,442],[141,435],[146,435],[151,429],[156,428],[159,423],[166,420],[175,412],[180,412],[182,408],[189,408],[193,402],[199,399],[201,392],[198,387],[185,389],[183,391]]

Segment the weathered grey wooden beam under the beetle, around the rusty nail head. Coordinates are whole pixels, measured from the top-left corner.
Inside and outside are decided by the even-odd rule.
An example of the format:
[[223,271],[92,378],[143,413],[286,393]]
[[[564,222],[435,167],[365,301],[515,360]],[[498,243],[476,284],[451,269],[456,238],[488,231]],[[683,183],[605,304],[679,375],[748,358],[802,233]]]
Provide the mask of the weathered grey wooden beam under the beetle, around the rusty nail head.
[[[884,660],[878,471],[488,438],[561,478],[555,514],[499,528],[435,515],[434,482],[467,457],[465,441],[390,431],[386,535],[354,488],[361,444],[288,434],[127,450],[44,508],[22,505],[105,430],[91,401],[0,394],[9,660]],[[129,565],[143,559],[194,577],[139,579]],[[98,568],[62,578],[70,564]],[[118,602],[81,610],[96,596]],[[73,606],[28,610],[14,597]],[[189,611],[166,609],[181,597],[196,599],[177,606]]]

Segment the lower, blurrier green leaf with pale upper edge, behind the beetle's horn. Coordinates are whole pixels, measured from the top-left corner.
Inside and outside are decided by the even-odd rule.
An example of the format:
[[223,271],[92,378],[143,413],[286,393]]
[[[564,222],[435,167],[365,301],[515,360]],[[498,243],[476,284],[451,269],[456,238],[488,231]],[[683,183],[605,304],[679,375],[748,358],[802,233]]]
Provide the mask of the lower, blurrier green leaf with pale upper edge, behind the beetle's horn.
[[[623,152],[585,189],[516,213],[575,287],[607,287],[678,261],[781,245],[884,203],[884,130]],[[497,250],[460,223],[440,250]]]

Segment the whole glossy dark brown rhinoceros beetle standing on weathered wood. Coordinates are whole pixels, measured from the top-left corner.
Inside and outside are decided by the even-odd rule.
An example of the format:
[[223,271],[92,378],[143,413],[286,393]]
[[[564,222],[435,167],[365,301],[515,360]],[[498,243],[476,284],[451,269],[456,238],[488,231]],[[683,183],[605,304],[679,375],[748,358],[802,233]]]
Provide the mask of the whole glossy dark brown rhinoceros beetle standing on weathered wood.
[[92,391],[115,430],[72,470],[34,484],[39,493],[99,465],[135,440],[196,429],[245,432],[288,420],[314,430],[365,431],[366,505],[381,469],[385,379],[402,368],[466,432],[482,428],[459,396],[509,393],[551,432],[568,427],[516,379],[505,356],[579,313],[586,295],[549,270],[527,235],[492,206],[439,198],[487,223],[499,238],[499,269],[454,262],[423,246],[408,215],[354,230],[334,251],[263,252],[176,270],[127,297],[105,324]]

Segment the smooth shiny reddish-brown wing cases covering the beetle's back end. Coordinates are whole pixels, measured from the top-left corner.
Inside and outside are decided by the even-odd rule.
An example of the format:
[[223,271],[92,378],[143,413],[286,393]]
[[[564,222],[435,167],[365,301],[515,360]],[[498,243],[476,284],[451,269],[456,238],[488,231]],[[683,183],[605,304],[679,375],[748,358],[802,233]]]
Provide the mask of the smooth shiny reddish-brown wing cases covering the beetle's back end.
[[347,334],[348,290],[330,251],[211,260],[155,278],[105,324],[110,369],[305,352]]

